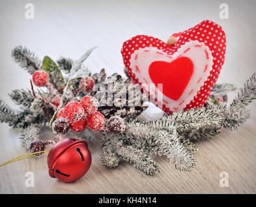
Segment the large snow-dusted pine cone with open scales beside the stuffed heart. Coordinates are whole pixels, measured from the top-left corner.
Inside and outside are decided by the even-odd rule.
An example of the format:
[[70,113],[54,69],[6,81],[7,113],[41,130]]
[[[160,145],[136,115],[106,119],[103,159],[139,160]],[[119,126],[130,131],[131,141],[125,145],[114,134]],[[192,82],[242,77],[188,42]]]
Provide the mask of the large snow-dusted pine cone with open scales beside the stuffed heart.
[[99,101],[98,110],[106,118],[111,116],[135,118],[147,108],[143,105],[147,96],[141,92],[141,87],[134,84],[130,78],[122,78],[117,73],[97,84],[96,91],[91,95]]

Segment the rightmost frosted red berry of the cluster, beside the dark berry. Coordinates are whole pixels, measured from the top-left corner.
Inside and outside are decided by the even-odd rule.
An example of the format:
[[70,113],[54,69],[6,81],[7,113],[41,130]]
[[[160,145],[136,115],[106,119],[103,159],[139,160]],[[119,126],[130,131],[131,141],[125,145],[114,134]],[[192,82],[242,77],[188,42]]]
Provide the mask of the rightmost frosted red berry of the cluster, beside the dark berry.
[[90,129],[99,131],[104,127],[105,117],[99,111],[95,111],[86,116],[86,123]]

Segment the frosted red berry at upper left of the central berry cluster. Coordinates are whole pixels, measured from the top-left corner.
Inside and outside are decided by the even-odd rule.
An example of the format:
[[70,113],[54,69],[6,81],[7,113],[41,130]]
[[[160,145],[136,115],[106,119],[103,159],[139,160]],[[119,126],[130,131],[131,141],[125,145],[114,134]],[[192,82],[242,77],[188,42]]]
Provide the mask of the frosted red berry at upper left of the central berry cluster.
[[79,120],[84,117],[84,108],[79,102],[71,101],[65,105],[64,116],[70,121]]

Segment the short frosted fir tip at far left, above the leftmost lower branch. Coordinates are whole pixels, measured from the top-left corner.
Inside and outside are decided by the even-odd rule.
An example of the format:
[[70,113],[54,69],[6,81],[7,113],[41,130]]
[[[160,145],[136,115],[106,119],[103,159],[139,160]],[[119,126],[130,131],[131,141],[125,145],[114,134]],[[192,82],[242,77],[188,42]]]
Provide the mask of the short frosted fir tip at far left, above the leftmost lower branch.
[[32,92],[27,89],[16,89],[9,94],[10,98],[17,105],[23,105],[24,107],[30,107],[34,100]]

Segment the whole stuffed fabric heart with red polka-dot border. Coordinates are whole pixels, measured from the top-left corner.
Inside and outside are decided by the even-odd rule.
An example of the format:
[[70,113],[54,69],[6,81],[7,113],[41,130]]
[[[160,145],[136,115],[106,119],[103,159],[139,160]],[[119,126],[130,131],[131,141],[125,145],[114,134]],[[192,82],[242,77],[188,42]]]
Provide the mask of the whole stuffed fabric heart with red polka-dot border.
[[175,45],[135,36],[121,52],[130,78],[150,101],[172,113],[204,105],[224,63],[226,36],[219,25],[205,20],[180,33]]

